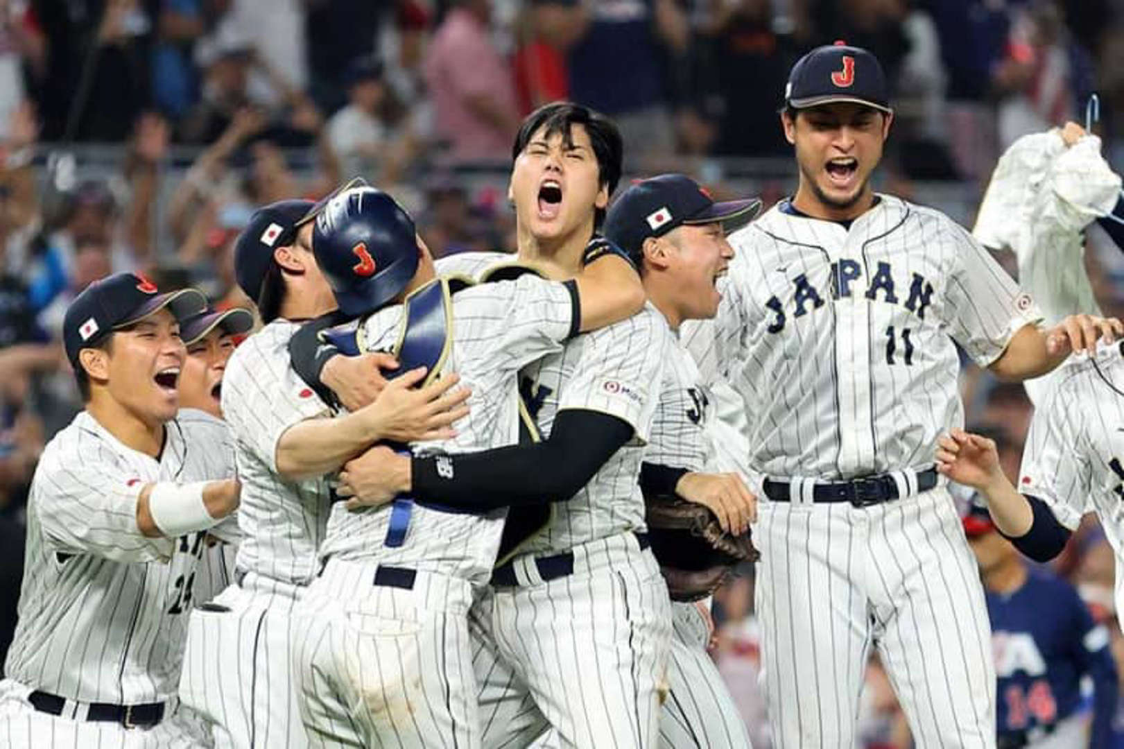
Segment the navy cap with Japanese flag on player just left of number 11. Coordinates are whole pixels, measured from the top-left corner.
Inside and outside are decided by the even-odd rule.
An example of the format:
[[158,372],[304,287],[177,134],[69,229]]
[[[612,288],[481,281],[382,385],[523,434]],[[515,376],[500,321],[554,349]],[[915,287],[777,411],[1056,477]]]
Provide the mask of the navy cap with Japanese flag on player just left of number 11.
[[660,174],[622,192],[609,207],[601,233],[638,261],[650,236],[663,236],[683,224],[720,223],[729,233],[749,224],[759,210],[758,198],[715,202],[691,178]]

